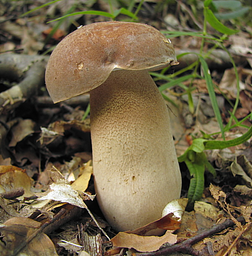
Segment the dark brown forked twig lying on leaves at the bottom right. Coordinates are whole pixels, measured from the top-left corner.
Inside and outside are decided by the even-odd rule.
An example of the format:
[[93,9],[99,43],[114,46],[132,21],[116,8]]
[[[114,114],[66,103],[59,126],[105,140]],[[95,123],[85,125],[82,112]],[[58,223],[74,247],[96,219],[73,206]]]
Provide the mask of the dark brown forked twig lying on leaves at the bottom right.
[[[242,224],[244,224],[244,222],[245,222],[245,220],[242,216],[240,216],[236,220],[241,222]],[[215,233],[223,231],[224,229],[226,229],[228,227],[232,227],[232,226],[234,226],[234,224],[235,224],[234,221],[232,221],[231,219],[227,219],[223,223],[217,224],[217,225],[213,226],[211,229],[205,230],[204,232],[202,232],[198,235],[195,235],[194,237],[191,237],[181,243],[177,243],[175,245],[161,248],[155,252],[136,253],[136,256],[161,256],[166,253],[174,253],[174,252],[189,253],[194,256],[200,256],[201,253],[199,251],[195,251],[192,248],[193,244],[199,242],[200,240],[202,240],[205,237],[208,237],[210,235],[213,235]]]

